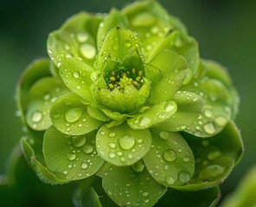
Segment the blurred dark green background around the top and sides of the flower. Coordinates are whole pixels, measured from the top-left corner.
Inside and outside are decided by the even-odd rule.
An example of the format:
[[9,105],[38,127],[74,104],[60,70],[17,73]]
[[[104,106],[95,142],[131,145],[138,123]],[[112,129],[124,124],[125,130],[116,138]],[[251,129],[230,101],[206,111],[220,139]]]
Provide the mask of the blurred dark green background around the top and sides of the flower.
[[[0,0],[0,173],[22,136],[16,117],[15,88],[30,61],[47,56],[48,34],[80,10],[108,12],[131,0]],[[256,1],[162,0],[170,14],[179,16],[199,42],[202,58],[227,66],[240,93],[241,130],[246,152],[221,185],[223,196],[256,164]]]

